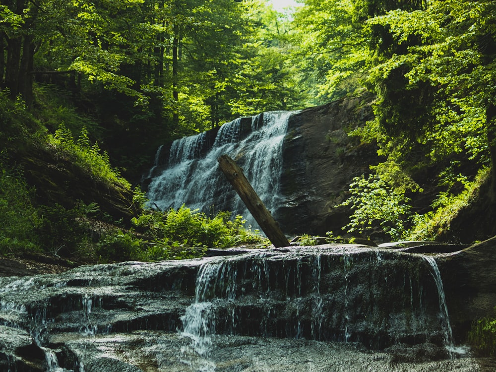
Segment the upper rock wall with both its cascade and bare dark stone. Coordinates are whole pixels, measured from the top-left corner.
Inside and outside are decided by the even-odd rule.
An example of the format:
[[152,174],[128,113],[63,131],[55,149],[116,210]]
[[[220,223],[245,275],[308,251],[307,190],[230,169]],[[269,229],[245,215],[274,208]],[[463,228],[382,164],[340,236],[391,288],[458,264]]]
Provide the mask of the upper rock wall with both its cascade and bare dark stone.
[[348,135],[372,118],[370,101],[342,99],[301,112],[239,118],[161,146],[144,176],[150,205],[228,210],[254,224],[218,169],[217,158],[227,154],[283,232],[340,232],[350,213],[334,207],[344,200],[353,177],[369,173],[369,164],[378,162],[373,145],[361,145]]

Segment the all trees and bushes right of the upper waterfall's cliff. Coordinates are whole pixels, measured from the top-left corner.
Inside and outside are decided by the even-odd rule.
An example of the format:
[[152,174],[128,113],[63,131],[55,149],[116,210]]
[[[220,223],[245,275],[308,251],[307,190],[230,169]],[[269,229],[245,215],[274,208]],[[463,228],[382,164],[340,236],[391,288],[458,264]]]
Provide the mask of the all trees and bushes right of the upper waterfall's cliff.
[[[385,161],[352,185],[350,231],[463,239],[450,221],[481,204],[478,198],[495,205],[495,2],[304,3],[296,35],[315,67],[318,95],[364,86],[376,95],[375,119],[354,134],[376,142]],[[422,194],[428,183],[437,186],[433,195]],[[481,187],[484,195],[474,192]],[[485,225],[474,217],[467,225]],[[473,240],[496,234],[494,227],[468,229]]]

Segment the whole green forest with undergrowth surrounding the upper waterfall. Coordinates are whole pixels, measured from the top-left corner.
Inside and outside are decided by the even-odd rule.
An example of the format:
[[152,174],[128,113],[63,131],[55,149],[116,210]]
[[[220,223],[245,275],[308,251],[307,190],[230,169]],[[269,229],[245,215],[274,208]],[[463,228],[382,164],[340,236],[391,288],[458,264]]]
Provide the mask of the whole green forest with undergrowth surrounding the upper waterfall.
[[[374,119],[350,135],[376,143],[384,161],[350,185],[348,233],[379,226],[393,239],[435,239],[481,189],[490,223],[495,8],[489,0],[306,0],[284,12],[261,0],[2,1],[0,251],[150,260],[184,247],[201,254],[222,236],[224,246],[239,234],[261,242],[229,212],[144,211],[139,179],[155,149],[236,117],[364,91],[375,97]],[[135,213],[116,216],[74,195],[40,200],[25,175],[40,151],[122,188]],[[439,192],[417,213],[409,201],[427,173]],[[76,238],[94,219],[113,233]],[[208,236],[188,236],[193,225],[208,225]],[[102,256],[111,241],[127,253]]]

